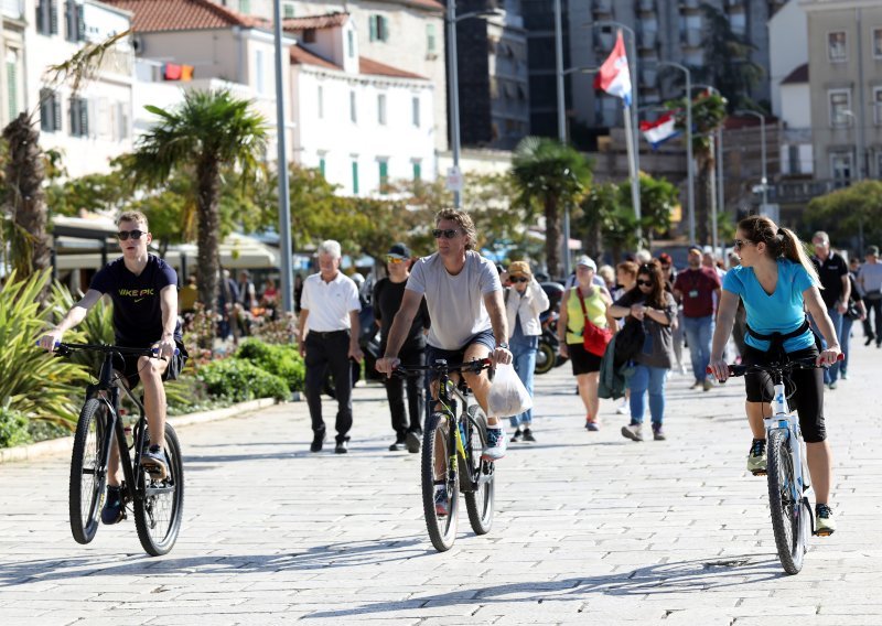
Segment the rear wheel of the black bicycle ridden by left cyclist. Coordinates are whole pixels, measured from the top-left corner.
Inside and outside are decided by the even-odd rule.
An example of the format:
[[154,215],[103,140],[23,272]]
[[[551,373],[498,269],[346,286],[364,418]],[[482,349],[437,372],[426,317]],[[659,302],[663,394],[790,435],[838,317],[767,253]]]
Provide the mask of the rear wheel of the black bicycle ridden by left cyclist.
[[[144,436],[144,441],[149,438]],[[138,495],[135,498],[135,528],[144,551],[151,557],[166,554],[178,540],[184,509],[184,464],[181,444],[171,424],[165,424],[165,456],[169,475],[153,481],[142,468],[136,468]]]

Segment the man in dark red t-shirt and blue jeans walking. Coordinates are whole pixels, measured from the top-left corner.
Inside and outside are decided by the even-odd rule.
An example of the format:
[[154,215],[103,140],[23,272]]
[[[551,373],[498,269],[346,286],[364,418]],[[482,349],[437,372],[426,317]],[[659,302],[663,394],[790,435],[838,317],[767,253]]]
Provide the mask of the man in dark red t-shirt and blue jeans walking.
[[682,302],[684,330],[689,342],[695,384],[691,389],[709,391],[713,384],[706,373],[713,336],[713,302],[720,299],[721,282],[717,270],[701,266],[701,248],[689,248],[689,267],[677,274],[674,295]]

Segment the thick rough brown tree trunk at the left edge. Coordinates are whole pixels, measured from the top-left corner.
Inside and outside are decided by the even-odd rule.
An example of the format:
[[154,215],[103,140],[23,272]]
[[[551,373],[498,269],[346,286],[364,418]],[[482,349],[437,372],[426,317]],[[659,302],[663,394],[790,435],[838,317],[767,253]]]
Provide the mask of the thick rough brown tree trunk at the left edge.
[[20,114],[3,129],[3,139],[9,144],[6,212],[12,218],[10,253],[22,279],[49,268],[52,260],[46,237],[43,151],[40,133],[28,114]]

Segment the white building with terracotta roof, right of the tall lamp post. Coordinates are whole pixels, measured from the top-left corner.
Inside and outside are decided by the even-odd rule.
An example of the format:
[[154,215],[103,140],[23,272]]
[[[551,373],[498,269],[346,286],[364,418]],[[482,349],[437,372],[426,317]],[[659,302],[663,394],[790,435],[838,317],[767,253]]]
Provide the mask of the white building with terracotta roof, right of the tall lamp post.
[[294,18],[294,159],[348,195],[383,195],[398,180],[434,180],[435,86],[362,54],[345,12]]

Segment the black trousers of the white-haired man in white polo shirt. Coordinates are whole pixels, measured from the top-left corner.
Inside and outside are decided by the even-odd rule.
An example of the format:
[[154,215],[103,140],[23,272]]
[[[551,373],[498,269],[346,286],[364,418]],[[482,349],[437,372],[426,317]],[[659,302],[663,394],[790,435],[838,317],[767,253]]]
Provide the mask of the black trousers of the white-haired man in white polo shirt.
[[352,367],[349,366],[349,332],[314,333],[306,335],[306,403],[312,418],[312,431],[324,432],[322,389],[325,375],[334,378],[337,397],[336,441],[345,441],[352,428]]

